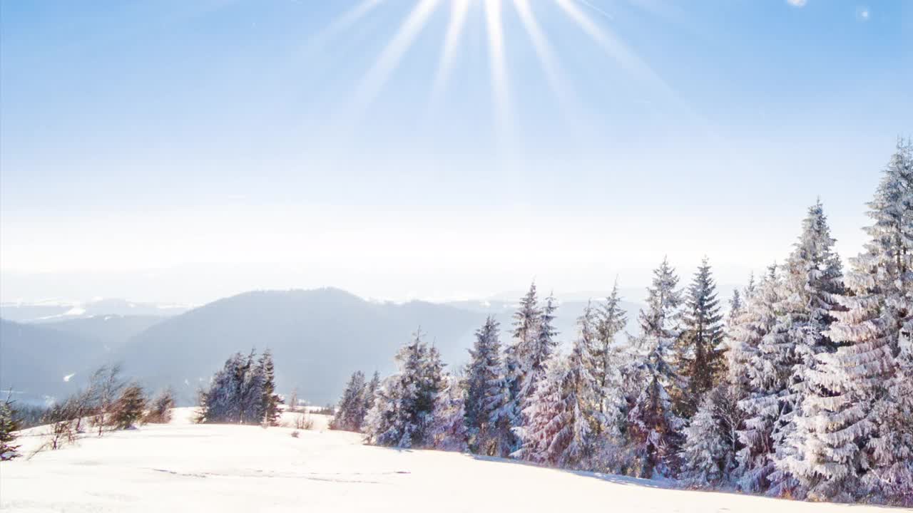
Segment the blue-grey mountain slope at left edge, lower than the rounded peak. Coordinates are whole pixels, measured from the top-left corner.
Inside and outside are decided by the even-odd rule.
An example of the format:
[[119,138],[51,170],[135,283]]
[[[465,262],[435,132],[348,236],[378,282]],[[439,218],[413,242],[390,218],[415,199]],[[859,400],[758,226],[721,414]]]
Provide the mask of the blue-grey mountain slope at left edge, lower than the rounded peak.
[[66,395],[104,351],[99,340],[0,319],[0,389],[26,402]]

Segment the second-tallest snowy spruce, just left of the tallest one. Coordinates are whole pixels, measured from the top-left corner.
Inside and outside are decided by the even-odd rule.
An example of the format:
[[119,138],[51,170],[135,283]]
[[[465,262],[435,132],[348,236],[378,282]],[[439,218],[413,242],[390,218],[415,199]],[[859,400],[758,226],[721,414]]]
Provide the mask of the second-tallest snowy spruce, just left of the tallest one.
[[821,479],[815,417],[833,395],[820,379],[819,355],[834,352],[826,331],[834,321],[835,297],[843,292],[840,258],[834,252],[824,208],[813,204],[784,273],[781,312],[768,337],[792,351],[789,386],[781,396],[781,428],[774,433],[774,466],[769,493],[805,497]]

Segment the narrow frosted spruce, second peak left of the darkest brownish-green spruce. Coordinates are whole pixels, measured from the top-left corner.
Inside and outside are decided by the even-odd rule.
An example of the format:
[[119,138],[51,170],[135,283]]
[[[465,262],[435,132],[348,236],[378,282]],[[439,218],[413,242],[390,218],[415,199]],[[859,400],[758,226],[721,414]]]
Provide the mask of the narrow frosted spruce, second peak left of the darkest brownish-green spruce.
[[599,424],[596,431],[606,437],[617,437],[624,414],[622,369],[629,356],[615,338],[624,331],[627,315],[621,308],[618,282],[612,294],[599,309],[596,320],[596,340],[593,343],[593,378],[596,380],[595,403]]

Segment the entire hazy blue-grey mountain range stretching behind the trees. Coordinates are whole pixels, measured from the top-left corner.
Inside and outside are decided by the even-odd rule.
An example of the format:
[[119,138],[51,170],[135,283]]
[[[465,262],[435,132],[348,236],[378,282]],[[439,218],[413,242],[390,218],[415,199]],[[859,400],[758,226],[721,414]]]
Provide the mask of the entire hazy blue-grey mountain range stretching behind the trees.
[[[567,343],[585,302],[561,303],[556,328]],[[636,330],[634,303],[629,330]],[[369,301],[335,288],[257,291],[224,298],[181,315],[96,316],[87,319],[16,324],[5,321],[3,360],[16,372],[3,374],[2,385],[20,389],[29,374],[29,391],[54,395],[74,388],[63,376],[86,375],[102,363],[121,362],[124,372],[150,390],[171,385],[183,403],[195,400],[215,370],[236,351],[270,348],[276,361],[278,389],[313,403],[335,402],[356,370],[394,372],[394,353],[421,326],[426,340],[455,368],[467,361],[473,333],[492,314],[509,341],[516,301],[460,301],[404,304]],[[59,356],[58,356],[59,355]],[[32,370],[35,372],[32,372]],[[12,372],[12,371],[11,371]],[[16,377],[8,382],[6,376]]]

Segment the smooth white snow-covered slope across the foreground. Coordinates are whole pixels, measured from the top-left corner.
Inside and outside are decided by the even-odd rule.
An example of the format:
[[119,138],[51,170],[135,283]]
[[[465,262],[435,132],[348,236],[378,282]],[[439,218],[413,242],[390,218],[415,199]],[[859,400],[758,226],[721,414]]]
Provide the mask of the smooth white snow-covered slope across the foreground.
[[[284,414],[283,421],[292,420]],[[0,464],[3,511],[698,511],[865,513],[811,504],[666,489],[660,484],[436,451],[362,445],[358,434],[191,424],[86,437]],[[27,452],[40,429],[20,439]]]

